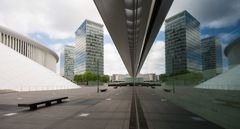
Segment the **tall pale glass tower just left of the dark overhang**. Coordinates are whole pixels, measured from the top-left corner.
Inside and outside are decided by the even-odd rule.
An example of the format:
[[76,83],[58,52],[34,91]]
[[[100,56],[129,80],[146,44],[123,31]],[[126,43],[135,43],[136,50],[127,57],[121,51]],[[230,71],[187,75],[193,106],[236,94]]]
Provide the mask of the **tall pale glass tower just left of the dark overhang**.
[[103,25],[85,20],[75,32],[74,73],[103,75]]

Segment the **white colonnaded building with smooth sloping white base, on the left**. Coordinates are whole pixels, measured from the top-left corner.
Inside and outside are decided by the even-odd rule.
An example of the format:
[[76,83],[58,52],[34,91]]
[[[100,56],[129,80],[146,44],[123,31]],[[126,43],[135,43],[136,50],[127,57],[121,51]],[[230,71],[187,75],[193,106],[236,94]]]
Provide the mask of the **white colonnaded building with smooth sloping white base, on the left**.
[[0,90],[39,91],[80,88],[56,74],[57,54],[0,26]]

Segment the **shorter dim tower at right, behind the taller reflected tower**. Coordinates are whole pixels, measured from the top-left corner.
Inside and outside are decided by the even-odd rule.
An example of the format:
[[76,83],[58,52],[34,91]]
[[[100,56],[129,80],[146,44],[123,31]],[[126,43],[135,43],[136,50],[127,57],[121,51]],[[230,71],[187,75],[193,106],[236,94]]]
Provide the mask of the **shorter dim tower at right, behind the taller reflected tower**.
[[215,37],[202,39],[203,71],[213,70],[216,74],[222,73],[222,46]]

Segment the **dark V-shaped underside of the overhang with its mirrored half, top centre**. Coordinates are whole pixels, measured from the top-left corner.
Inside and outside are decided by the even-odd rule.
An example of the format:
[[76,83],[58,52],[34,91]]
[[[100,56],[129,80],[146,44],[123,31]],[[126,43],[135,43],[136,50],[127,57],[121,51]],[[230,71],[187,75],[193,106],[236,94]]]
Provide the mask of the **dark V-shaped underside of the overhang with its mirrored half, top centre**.
[[173,0],[94,0],[132,77],[148,55]]

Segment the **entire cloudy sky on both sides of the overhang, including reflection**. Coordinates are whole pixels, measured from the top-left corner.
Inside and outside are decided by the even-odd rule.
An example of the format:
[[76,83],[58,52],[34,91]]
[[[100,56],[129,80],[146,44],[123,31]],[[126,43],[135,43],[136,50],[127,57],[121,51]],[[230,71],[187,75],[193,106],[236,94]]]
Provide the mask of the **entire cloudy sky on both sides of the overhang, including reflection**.
[[[93,0],[0,0],[0,3],[1,26],[39,41],[57,54],[63,45],[74,45],[74,32],[85,19],[104,24]],[[240,35],[240,0],[175,0],[167,18],[183,10],[201,23],[201,38],[216,36],[226,47]],[[164,28],[163,24],[141,73],[165,73]],[[127,73],[106,27],[104,70],[108,75]]]

